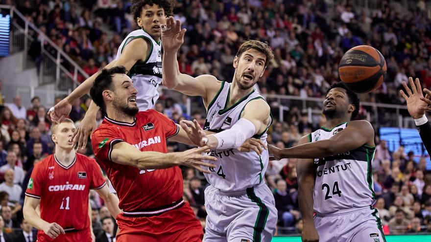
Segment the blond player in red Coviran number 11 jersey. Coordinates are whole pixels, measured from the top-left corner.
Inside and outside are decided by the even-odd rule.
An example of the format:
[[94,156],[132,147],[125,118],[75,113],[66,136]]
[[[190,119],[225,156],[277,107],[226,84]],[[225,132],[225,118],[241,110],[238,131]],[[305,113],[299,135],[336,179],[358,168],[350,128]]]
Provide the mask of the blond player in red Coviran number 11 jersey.
[[[104,199],[115,217],[121,211],[109,193],[101,169],[94,159],[73,149],[73,121],[52,125],[55,154],[35,165],[25,191],[24,218],[39,229],[38,242],[90,242],[90,189]],[[36,207],[40,204],[40,216]]]

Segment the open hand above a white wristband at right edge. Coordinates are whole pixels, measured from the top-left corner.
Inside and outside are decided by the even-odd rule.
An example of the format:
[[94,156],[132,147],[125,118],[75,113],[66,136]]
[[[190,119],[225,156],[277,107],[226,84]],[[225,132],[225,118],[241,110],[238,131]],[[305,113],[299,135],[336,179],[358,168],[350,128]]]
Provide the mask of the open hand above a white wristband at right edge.
[[408,88],[406,82],[403,82],[403,86],[406,89],[407,94],[403,90],[400,90],[400,93],[407,101],[408,113],[412,118],[417,119],[425,114],[425,110],[431,110],[431,108],[428,107],[428,105],[431,104],[431,93],[428,94],[429,90],[426,92],[425,90],[427,89],[424,89],[424,91],[427,93],[424,98],[419,78],[416,78],[415,82],[416,84],[413,82],[413,78],[409,77],[408,83],[410,84],[411,89]]

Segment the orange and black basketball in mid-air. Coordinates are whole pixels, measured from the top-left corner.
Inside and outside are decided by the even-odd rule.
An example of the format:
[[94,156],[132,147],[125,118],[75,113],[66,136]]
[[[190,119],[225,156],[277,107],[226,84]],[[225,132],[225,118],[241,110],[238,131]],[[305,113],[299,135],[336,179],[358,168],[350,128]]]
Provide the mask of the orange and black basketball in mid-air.
[[357,93],[367,93],[382,85],[386,69],[386,61],[380,51],[368,45],[359,45],[343,55],[338,73],[347,88]]

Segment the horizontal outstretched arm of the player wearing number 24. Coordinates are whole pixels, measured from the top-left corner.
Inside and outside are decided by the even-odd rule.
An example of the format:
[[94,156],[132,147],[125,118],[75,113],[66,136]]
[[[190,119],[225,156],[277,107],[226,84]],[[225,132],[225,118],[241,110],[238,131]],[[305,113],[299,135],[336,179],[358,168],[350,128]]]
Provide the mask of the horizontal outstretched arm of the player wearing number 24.
[[298,145],[292,148],[279,149],[268,146],[269,152],[276,159],[280,158],[323,158],[355,150],[362,145],[374,146],[374,129],[365,120],[352,121],[349,125],[330,139]]

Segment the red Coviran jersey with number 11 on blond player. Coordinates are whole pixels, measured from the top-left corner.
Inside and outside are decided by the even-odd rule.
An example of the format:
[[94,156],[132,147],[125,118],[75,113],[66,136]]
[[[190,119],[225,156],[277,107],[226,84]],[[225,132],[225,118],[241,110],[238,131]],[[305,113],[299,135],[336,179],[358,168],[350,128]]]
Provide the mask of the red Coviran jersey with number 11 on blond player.
[[[76,154],[72,164],[66,167],[51,154],[34,166],[25,195],[40,199],[43,220],[56,222],[65,231],[82,230],[90,229],[90,189],[105,185],[102,171],[94,159]],[[39,230],[38,240],[52,239]]]

